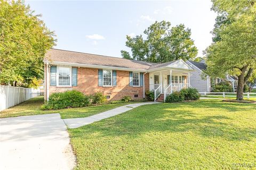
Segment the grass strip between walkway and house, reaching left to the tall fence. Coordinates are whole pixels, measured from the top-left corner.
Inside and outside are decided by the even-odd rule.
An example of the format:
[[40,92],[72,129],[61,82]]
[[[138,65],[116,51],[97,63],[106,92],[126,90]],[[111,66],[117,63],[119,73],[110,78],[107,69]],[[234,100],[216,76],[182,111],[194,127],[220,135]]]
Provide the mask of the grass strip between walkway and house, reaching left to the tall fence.
[[130,104],[130,103],[114,103],[114,104],[105,104],[105,105],[98,105],[98,106],[43,111],[40,109],[43,103],[44,103],[43,97],[27,100],[19,105],[13,106],[11,108],[8,108],[0,112],[0,118],[37,115],[37,114],[49,114],[49,113],[60,113],[61,118],[88,117],[94,114],[108,111],[110,109],[113,109],[119,106]]

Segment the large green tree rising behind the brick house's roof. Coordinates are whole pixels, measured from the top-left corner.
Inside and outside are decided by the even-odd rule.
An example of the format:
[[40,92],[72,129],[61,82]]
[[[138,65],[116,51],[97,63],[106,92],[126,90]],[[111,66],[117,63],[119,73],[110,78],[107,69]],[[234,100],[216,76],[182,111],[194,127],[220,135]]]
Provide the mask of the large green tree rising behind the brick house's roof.
[[184,24],[171,27],[170,22],[156,21],[144,33],[146,39],[142,35],[126,36],[126,46],[131,48],[132,55],[121,50],[123,58],[164,63],[178,59],[186,61],[197,55],[191,31]]

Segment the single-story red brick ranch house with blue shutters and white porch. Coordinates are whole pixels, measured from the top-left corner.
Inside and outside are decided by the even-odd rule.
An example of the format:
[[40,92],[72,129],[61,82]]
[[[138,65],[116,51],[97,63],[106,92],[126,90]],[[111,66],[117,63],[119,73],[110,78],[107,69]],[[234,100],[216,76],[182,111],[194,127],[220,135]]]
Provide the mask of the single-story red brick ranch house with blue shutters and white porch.
[[109,100],[124,96],[145,98],[153,90],[155,100],[190,87],[194,69],[183,60],[157,64],[95,54],[50,49],[44,58],[45,100],[53,92],[78,90],[86,95],[103,92]]

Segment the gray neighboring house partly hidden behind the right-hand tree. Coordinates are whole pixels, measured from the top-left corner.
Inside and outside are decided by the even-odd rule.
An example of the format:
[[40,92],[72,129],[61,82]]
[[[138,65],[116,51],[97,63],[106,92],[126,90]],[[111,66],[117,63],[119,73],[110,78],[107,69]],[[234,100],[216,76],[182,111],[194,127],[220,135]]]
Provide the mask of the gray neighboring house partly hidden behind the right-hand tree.
[[236,77],[227,74],[225,79],[211,79],[209,75],[206,75],[203,79],[202,73],[207,67],[204,60],[202,62],[187,61],[186,63],[195,69],[195,72],[191,75],[190,84],[198,91],[210,92],[216,84],[222,81],[228,81],[233,87],[233,91],[236,91],[238,81]]

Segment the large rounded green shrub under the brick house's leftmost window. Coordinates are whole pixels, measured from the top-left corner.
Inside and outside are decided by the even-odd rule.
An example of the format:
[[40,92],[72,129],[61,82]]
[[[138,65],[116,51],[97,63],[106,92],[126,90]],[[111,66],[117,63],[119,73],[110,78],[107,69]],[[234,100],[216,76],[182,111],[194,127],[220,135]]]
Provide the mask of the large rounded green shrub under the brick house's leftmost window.
[[82,92],[69,90],[51,94],[49,101],[42,106],[42,109],[63,109],[89,105],[91,105],[89,97],[84,96]]

